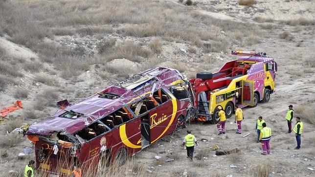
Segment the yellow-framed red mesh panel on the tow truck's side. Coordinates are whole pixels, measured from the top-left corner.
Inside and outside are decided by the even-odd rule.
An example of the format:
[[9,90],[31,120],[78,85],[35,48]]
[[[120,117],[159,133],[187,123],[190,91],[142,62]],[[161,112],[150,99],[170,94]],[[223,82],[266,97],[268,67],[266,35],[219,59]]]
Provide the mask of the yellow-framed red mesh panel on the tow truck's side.
[[254,105],[254,81],[242,81],[242,105]]

